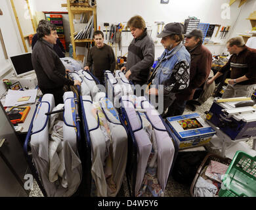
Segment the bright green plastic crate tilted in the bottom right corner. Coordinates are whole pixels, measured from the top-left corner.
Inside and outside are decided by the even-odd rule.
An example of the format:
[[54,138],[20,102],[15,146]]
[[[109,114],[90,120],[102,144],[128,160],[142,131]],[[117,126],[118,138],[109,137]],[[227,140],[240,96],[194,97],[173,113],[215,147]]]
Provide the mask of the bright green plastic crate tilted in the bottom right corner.
[[237,151],[223,178],[219,197],[256,197],[256,156]]

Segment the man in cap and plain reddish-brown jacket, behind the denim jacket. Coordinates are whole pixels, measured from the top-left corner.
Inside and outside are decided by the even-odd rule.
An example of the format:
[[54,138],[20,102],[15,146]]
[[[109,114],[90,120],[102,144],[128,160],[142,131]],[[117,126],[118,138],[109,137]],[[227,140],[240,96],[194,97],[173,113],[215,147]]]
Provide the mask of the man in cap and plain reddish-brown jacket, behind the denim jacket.
[[184,36],[186,37],[184,46],[191,56],[190,83],[187,89],[175,95],[175,102],[168,108],[167,117],[183,114],[186,102],[192,100],[196,89],[205,83],[211,72],[212,56],[211,52],[202,45],[202,31],[193,30]]

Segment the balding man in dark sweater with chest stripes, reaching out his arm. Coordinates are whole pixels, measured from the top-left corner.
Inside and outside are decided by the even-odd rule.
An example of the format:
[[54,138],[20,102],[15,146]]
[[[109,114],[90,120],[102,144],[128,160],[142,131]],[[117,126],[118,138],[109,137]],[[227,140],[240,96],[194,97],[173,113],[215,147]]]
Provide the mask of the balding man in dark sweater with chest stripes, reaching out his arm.
[[229,39],[226,48],[232,56],[207,83],[213,83],[217,77],[231,69],[231,79],[228,80],[222,98],[251,97],[256,89],[256,50],[245,46],[242,37]]

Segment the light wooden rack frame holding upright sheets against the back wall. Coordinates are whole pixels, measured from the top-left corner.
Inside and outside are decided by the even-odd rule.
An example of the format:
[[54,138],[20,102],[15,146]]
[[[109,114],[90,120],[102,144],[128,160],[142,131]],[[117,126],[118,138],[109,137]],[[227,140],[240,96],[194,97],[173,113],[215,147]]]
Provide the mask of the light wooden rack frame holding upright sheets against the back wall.
[[74,39],[74,14],[81,14],[85,12],[91,12],[93,14],[93,28],[96,31],[96,5],[94,7],[89,7],[89,3],[72,3],[71,0],[67,0],[67,4],[62,5],[62,7],[67,7],[68,17],[70,18],[70,33],[71,33],[71,43],[73,47],[73,58],[75,60],[82,60],[83,56],[77,56],[75,48],[77,45],[81,46],[81,43],[92,43],[93,39]]

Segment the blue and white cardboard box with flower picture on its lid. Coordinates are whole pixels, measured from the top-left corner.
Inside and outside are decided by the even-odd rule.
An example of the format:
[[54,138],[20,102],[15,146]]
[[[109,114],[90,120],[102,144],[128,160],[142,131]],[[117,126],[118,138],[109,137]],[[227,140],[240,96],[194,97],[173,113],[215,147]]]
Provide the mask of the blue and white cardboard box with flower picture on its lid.
[[167,117],[167,124],[179,138],[180,149],[207,144],[216,133],[197,113]]

